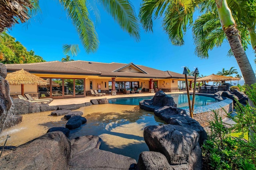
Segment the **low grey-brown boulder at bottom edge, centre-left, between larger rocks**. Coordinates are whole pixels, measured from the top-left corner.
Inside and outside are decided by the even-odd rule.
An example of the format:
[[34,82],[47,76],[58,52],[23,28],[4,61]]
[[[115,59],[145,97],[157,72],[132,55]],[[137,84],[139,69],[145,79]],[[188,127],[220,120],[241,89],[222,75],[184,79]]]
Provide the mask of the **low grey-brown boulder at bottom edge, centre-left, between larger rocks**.
[[132,170],[136,160],[100,149],[79,152],[70,159],[69,170]]

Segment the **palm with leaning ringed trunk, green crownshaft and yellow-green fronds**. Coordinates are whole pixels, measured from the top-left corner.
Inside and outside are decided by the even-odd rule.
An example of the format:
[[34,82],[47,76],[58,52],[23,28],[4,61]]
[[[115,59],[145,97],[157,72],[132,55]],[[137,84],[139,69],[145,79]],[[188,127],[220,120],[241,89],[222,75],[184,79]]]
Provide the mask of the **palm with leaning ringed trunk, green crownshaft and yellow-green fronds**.
[[[155,18],[162,17],[164,31],[168,34],[172,44],[183,45],[183,32],[186,32],[186,26],[188,24],[192,25],[193,13],[196,10],[196,7],[204,8],[204,10],[208,7],[212,8],[209,2],[213,1],[194,0],[191,2],[188,0],[142,0],[139,16],[142,26],[146,31],[152,31],[153,15]],[[255,74],[243,49],[239,31],[236,28],[235,20],[226,0],[215,0],[215,4],[217,6],[218,18],[222,29],[226,34],[246,84],[251,85],[256,83]],[[212,24],[212,27],[216,27],[214,23]]]

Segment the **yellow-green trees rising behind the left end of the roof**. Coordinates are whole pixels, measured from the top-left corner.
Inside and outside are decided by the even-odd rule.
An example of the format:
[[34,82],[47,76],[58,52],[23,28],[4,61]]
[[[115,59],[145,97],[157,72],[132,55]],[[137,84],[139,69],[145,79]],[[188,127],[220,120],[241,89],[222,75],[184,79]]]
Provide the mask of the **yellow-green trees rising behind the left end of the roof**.
[[44,59],[35,55],[34,51],[27,51],[14,37],[3,32],[0,34],[0,62],[4,64],[38,63]]

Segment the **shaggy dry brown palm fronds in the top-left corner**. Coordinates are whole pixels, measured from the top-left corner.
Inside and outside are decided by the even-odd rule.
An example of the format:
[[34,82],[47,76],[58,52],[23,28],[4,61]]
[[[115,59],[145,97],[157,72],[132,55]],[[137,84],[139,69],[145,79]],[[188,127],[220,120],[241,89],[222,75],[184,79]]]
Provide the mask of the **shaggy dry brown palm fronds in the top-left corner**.
[[31,0],[0,0],[0,33],[4,28],[11,27],[18,23],[25,22],[29,18],[29,12],[33,8]]

